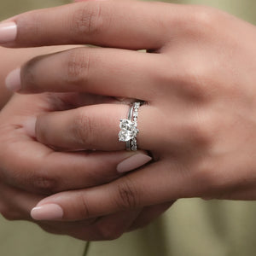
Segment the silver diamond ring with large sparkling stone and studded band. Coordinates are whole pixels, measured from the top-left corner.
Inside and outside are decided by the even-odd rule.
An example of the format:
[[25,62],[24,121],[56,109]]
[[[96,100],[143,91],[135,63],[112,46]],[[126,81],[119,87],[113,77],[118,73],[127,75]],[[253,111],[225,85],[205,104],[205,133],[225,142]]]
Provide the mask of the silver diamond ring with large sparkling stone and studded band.
[[137,150],[137,113],[140,108],[140,102],[134,102],[128,113],[127,119],[120,119],[119,128],[119,142],[126,143],[126,150]]

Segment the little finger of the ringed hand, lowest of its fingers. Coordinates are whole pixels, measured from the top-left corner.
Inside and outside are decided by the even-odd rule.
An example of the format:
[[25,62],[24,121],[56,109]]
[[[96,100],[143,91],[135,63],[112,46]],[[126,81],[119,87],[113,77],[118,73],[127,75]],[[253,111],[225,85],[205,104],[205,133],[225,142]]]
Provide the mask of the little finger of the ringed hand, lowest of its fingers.
[[[32,217],[44,218],[40,213],[49,204],[61,207],[59,220],[77,220],[195,196],[193,179],[184,172],[177,163],[167,166],[165,161],[156,162],[112,183],[49,196],[38,203],[37,212]],[[55,215],[53,217],[56,219]]]

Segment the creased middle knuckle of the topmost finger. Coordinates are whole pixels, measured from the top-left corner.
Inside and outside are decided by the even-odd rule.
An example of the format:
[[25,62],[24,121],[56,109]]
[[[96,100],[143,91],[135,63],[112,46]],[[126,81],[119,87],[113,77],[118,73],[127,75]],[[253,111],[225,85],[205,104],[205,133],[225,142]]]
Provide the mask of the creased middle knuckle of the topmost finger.
[[84,3],[73,12],[72,29],[78,41],[102,31],[103,25],[102,3]]

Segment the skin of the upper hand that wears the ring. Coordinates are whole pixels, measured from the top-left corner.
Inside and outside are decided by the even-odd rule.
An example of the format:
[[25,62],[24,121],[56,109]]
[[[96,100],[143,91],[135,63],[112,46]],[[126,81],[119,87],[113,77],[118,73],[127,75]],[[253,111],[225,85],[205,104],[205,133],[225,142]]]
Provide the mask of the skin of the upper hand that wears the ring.
[[[104,46],[28,62],[20,92],[143,100],[137,140],[154,156],[113,182],[61,192],[38,206],[59,205],[59,220],[79,221],[185,197],[255,200],[255,26],[206,7],[106,1],[30,12],[15,22],[9,47]],[[121,150],[113,138],[125,113],[127,106],[100,104],[44,114],[35,136],[63,150]],[[74,127],[81,117],[87,125]]]

